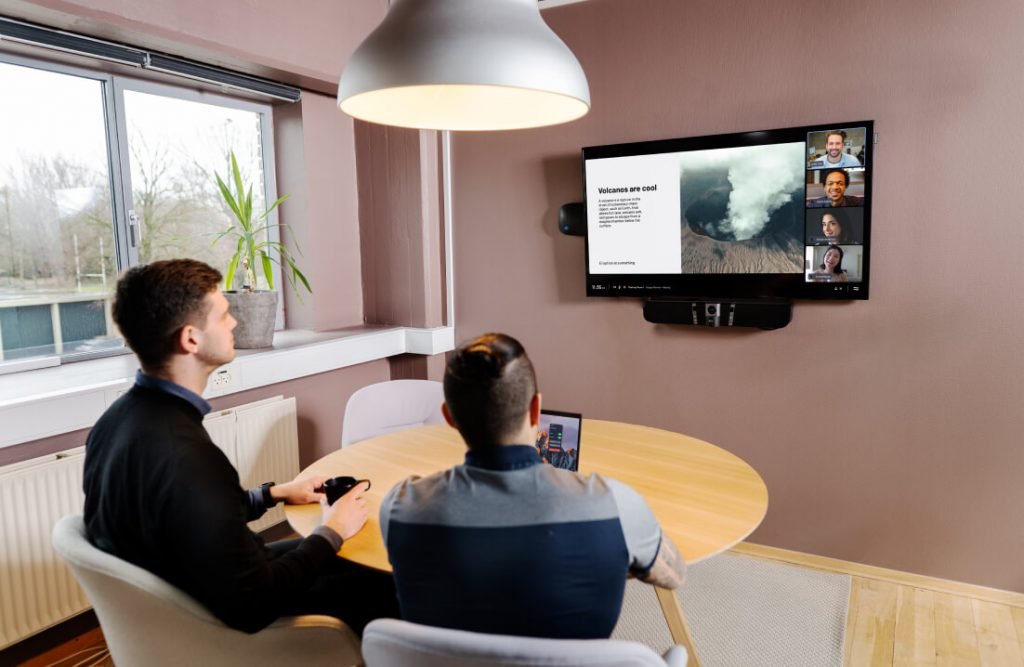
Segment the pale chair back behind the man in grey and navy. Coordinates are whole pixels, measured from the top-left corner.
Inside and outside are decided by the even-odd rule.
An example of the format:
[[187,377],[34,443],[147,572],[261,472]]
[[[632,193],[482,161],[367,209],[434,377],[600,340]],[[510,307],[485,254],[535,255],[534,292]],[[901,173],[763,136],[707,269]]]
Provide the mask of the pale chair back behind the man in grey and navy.
[[659,657],[617,639],[541,639],[378,619],[362,632],[367,667],[686,667],[686,650]]

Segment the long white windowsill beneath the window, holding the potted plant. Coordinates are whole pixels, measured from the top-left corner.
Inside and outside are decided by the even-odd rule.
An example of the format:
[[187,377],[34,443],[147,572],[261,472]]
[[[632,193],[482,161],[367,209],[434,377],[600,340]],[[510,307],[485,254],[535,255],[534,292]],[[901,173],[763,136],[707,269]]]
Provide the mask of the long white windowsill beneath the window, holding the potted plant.
[[[329,332],[279,331],[269,349],[239,350],[203,394],[222,397],[395,355],[455,348],[452,327],[367,325]],[[88,428],[134,381],[134,355],[0,375],[0,448]]]

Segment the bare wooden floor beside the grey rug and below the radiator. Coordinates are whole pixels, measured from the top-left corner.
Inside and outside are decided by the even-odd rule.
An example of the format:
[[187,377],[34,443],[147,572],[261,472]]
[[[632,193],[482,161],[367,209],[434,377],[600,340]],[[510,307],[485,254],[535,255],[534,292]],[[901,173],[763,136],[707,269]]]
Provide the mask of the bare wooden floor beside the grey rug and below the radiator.
[[[1022,593],[757,544],[740,544],[733,551],[853,578],[843,660],[847,667],[1024,667]],[[103,648],[94,630],[24,664],[112,665]]]

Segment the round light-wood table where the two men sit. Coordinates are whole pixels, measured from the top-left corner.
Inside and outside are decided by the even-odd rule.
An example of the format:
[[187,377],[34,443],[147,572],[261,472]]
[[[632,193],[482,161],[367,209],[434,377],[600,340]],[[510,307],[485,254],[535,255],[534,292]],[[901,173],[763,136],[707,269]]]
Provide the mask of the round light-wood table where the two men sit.
[[[427,475],[462,463],[466,446],[454,428],[441,424],[379,435],[328,454],[303,474],[349,474],[369,478],[370,518],[345,542],[349,560],[390,571],[378,519],[384,495],[412,474]],[[739,457],[703,441],[649,426],[586,419],[580,445],[580,472],[597,472],[635,489],[688,564],[741,542],[764,518],[768,489],[761,475]],[[319,505],[289,505],[288,522],[300,535],[321,524]],[[656,589],[673,638],[696,652],[679,601]]]

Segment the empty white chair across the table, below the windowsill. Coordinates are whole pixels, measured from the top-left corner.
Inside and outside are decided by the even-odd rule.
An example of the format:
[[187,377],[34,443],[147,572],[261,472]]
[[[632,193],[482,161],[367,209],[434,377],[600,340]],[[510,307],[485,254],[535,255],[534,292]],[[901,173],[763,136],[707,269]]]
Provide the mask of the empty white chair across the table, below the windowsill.
[[390,380],[362,387],[345,406],[341,446],[424,424],[443,424],[444,390],[433,380]]

